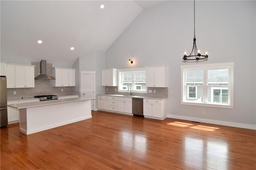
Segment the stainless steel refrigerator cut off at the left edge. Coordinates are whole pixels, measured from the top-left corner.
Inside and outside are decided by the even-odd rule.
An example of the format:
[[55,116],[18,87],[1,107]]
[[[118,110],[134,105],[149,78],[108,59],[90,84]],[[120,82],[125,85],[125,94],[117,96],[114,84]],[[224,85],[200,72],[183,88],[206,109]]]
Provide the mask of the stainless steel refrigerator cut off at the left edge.
[[0,76],[0,127],[8,125],[7,118],[7,83],[6,77]]

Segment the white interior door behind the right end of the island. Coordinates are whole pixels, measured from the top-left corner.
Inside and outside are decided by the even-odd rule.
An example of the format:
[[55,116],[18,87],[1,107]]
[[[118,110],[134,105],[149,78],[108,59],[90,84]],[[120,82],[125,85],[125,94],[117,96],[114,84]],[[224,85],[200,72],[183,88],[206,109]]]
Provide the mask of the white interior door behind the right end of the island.
[[[81,97],[85,99],[94,98],[94,75],[82,73],[82,91]],[[92,100],[92,110],[94,109],[94,100]]]

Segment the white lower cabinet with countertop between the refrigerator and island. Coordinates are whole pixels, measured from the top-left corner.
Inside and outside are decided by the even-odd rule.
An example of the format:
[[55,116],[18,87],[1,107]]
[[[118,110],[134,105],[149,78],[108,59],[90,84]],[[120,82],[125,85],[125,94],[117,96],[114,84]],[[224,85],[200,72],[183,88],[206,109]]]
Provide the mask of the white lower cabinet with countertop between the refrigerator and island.
[[[9,101],[7,102],[7,105],[18,104],[18,103],[29,103],[29,102],[36,102],[36,101],[40,101],[40,99]],[[8,125],[20,122],[19,111],[18,109],[15,109],[13,107],[9,107],[9,106],[7,107],[7,117],[8,117]]]

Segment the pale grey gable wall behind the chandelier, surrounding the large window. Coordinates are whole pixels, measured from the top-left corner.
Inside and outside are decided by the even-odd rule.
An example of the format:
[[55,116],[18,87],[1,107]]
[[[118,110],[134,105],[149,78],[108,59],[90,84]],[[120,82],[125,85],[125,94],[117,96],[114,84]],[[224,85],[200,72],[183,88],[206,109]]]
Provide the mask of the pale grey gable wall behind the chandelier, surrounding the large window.
[[184,49],[189,53],[193,45],[193,1],[142,11],[106,51],[106,68],[168,65],[169,117],[256,128],[255,3],[196,1],[197,47],[209,54],[202,63],[234,62],[234,109],[180,105],[180,65],[201,64],[182,62]]

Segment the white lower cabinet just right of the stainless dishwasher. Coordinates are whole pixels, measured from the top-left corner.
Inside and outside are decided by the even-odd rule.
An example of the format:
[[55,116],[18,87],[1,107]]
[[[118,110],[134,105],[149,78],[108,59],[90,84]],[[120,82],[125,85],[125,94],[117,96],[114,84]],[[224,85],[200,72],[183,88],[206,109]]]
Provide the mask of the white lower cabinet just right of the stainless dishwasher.
[[144,117],[164,120],[167,117],[167,99],[143,99]]

